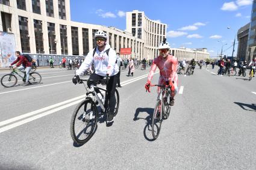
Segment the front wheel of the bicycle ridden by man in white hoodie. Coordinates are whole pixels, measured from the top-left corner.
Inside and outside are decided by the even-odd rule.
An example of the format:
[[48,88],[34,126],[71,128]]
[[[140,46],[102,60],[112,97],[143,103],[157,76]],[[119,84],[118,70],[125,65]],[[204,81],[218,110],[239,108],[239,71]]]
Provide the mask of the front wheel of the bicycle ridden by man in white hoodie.
[[92,137],[97,126],[97,108],[91,99],[83,100],[73,112],[70,135],[76,144],[85,144]]

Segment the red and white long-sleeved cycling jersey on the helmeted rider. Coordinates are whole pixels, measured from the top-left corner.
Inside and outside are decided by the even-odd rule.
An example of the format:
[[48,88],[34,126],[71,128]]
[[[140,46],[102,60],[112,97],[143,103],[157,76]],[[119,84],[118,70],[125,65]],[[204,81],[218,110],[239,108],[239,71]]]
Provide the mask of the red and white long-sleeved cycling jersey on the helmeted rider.
[[[152,77],[154,76],[155,70],[157,67],[160,70],[160,77],[158,80],[158,84],[160,85],[166,85],[167,81],[174,82],[173,85],[175,87],[175,91],[173,92],[173,96],[178,91],[178,74],[176,73],[178,65],[178,60],[175,58],[175,56],[168,55],[166,58],[163,56],[158,56],[154,59],[151,70],[148,74],[148,82],[151,82]],[[160,91],[160,88],[158,88],[158,92]]]

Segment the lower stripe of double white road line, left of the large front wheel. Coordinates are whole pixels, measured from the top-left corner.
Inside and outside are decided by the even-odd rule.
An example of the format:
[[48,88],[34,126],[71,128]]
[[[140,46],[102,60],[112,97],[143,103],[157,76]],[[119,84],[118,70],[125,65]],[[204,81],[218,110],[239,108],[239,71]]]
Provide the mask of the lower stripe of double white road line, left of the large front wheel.
[[37,120],[39,118],[45,117],[46,115],[53,114],[54,112],[60,111],[62,109],[69,108],[70,106],[73,106],[73,105],[76,105],[77,103],[80,103],[82,100],[84,100],[84,99],[77,100],[77,101],[69,103],[67,105],[60,106],[59,108],[52,109],[51,111],[47,111],[47,112],[44,112],[42,114],[36,115],[34,117],[30,117],[30,118],[27,118],[25,120],[18,121],[16,123],[10,124],[8,126],[4,126],[0,129],[0,133],[5,132],[5,131],[10,130],[10,129],[13,129],[14,127],[20,126],[22,124],[29,123],[33,120]]

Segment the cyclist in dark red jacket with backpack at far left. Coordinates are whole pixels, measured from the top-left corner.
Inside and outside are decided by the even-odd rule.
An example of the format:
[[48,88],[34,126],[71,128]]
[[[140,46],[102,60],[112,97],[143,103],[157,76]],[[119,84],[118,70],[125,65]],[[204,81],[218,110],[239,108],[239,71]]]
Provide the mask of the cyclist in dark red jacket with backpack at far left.
[[16,51],[15,55],[17,56],[17,59],[15,61],[11,62],[10,65],[17,63],[16,66],[14,66],[13,68],[18,67],[19,70],[23,70],[26,68],[26,82],[24,82],[24,83],[25,83],[25,86],[27,86],[27,85],[29,85],[28,79],[30,79],[30,70],[31,70],[32,63],[29,62],[25,56],[20,55],[19,51]]

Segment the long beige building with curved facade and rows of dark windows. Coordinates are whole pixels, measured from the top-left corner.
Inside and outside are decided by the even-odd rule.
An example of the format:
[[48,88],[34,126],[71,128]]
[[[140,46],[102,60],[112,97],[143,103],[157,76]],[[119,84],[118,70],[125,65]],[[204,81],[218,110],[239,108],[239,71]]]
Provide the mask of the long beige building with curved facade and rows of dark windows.
[[[128,47],[134,58],[153,59],[166,37],[167,25],[141,11],[126,13],[126,31],[71,21],[69,0],[0,0],[0,11],[0,31],[14,34],[16,49],[23,53],[86,56],[96,46],[93,35],[102,30],[116,52]],[[174,55],[189,58],[192,53],[176,49]]]

